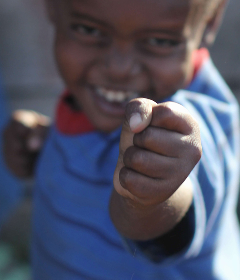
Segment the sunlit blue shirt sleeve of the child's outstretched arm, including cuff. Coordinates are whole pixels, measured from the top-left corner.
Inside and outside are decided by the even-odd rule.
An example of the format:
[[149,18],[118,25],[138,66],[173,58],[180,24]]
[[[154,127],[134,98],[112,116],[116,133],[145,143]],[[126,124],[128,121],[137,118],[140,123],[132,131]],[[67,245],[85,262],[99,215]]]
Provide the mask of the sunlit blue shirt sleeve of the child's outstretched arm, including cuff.
[[[238,197],[239,112],[236,100],[216,100],[208,95],[181,90],[173,101],[188,109],[201,131],[202,158],[189,175],[193,185],[193,203],[176,228],[179,236],[174,235],[174,230],[172,232],[173,250],[169,246],[164,248],[164,236],[161,244],[156,240],[137,243],[127,240],[132,253],[137,246],[150,261],[161,263],[178,262],[213,252],[225,201],[229,197],[234,198],[231,203],[233,209]],[[181,232],[184,234],[182,239]],[[184,245],[177,250],[177,242],[182,240]]]

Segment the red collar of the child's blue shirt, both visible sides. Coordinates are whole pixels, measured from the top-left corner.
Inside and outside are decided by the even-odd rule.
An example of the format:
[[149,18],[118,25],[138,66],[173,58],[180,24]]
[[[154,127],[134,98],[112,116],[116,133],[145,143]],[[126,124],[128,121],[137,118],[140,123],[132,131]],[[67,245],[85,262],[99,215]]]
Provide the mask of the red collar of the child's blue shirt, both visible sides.
[[[192,63],[194,64],[193,78],[201,68],[205,60],[210,57],[206,48],[201,48],[193,52]],[[81,133],[92,132],[95,130],[94,126],[88,120],[86,115],[72,109],[66,102],[66,98],[70,96],[70,92],[66,90],[60,98],[56,111],[56,125],[58,130],[67,135],[77,135]]]

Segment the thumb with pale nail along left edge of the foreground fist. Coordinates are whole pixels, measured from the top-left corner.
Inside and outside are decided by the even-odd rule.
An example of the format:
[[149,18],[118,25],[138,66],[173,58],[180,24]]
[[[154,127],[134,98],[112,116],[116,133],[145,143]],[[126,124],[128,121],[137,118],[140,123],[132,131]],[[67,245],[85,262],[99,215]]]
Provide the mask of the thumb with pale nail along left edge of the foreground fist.
[[119,157],[114,173],[115,190],[124,197],[132,197],[132,194],[124,189],[119,181],[120,170],[124,167],[124,154],[128,147],[133,146],[135,133],[143,131],[151,122],[152,109],[157,106],[152,100],[137,98],[131,100],[126,107],[125,121],[122,126],[121,139],[119,145]]

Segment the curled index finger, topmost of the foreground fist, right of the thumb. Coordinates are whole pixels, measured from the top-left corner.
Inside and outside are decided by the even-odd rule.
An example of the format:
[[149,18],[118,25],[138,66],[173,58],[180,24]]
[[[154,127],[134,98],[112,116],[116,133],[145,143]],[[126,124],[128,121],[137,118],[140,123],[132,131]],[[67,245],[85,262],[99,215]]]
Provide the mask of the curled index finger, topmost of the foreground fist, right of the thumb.
[[151,126],[189,135],[197,127],[197,123],[182,105],[174,102],[165,102],[153,108]]

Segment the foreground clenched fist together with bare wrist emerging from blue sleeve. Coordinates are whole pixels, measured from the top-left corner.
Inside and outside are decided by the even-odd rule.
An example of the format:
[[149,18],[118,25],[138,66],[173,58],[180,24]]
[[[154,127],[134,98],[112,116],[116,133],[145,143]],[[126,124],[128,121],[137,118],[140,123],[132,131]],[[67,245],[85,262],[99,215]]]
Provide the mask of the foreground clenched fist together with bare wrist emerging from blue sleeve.
[[[140,231],[143,223],[153,238],[174,227],[192,202],[186,179],[201,154],[198,124],[183,106],[144,98],[129,102],[110,203],[117,229],[124,234],[131,221]],[[151,219],[159,221],[152,230]],[[131,237],[131,232],[125,235]],[[143,239],[147,238],[146,233]]]

